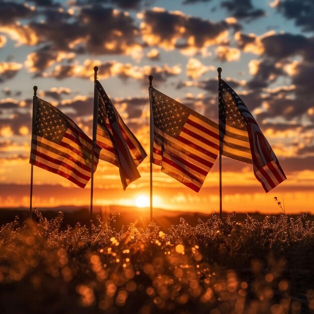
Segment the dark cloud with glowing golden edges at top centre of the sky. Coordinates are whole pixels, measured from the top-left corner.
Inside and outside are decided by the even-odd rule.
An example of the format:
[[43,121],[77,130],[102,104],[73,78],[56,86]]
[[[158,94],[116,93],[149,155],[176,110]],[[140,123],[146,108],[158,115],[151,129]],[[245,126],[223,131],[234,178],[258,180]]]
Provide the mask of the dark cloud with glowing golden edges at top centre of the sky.
[[140,31],[149,46],[200,50],[228,42],[229,25],[225,21],[214,23],[161,8],[143,11],[137,17],[143,20]]

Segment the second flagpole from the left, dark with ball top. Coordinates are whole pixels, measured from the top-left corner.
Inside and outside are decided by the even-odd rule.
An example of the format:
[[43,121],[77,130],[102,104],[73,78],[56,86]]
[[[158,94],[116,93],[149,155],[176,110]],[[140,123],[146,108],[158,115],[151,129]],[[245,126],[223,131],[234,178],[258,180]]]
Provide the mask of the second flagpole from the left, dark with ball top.
[[97,120],[98,120],[98,93],[95,86],[97,80],[98,67],[94,67],[94,111],[93,111],[93,140],[92,140],[92,173],[90,181],[90,221],[93,220],[93,194],[94,194],[94,156],[97,136]]

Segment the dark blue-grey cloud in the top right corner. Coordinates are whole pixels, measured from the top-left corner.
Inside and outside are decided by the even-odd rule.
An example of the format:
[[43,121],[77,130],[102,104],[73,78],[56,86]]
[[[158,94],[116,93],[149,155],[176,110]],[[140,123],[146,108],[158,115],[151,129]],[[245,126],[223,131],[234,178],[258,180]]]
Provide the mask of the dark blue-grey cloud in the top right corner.
[[302,31],[314,31],[314,4],[312,0],[281,0],[277,9],[287,19],[294,20],[295,25],[300,26]]

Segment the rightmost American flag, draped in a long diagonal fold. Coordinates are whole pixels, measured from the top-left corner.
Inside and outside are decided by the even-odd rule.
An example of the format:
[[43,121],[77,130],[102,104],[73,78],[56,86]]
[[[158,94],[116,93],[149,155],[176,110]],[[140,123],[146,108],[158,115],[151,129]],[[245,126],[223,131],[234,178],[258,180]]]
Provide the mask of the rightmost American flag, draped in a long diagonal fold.
[[286,180],[275,153],[254,117],[223,80],[219,83],[219,127],[223,141],[222,154],[253,164],[254,175],[266,192]]

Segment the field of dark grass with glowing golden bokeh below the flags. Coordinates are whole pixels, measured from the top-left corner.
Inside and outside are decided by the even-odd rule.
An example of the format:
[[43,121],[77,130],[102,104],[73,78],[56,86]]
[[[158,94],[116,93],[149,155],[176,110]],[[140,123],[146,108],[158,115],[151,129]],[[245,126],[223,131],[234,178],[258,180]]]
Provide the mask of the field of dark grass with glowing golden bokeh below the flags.
[[[0,313],[314,313],[314,223],[212,214],[169,229],[63,214],[0,229]],[[116,230],[118,229],[118,230]]]

